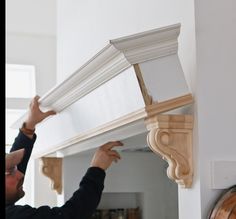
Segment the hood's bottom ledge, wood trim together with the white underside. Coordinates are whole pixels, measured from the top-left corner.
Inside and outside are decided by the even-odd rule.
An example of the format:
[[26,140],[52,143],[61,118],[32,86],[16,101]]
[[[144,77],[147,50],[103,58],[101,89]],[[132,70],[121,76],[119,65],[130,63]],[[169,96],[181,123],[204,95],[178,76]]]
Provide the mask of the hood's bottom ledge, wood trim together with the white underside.
[[[126,139],[130,136],[147,132],[148,129],[145,125],[145,120],[153,115],[158,115],[168,111],[168,109],[174,109],[192,103],[192,96],[186,95],[162,102],[161,104],[152,104],[94,129],[79,133],[72,138],[60,142],[58,145],[54,145],[50,149],[40,150],[38,153],[33,153],[32,156],[34,158],[40,158],[43,156],[63,157],[92,149],[91,145],[95,145],[96,147],[106,141],[112,141],[114,139],[113,136],[116,136],[117,139]],[[96,144],[94,144],[94,142],[96,142]]]

